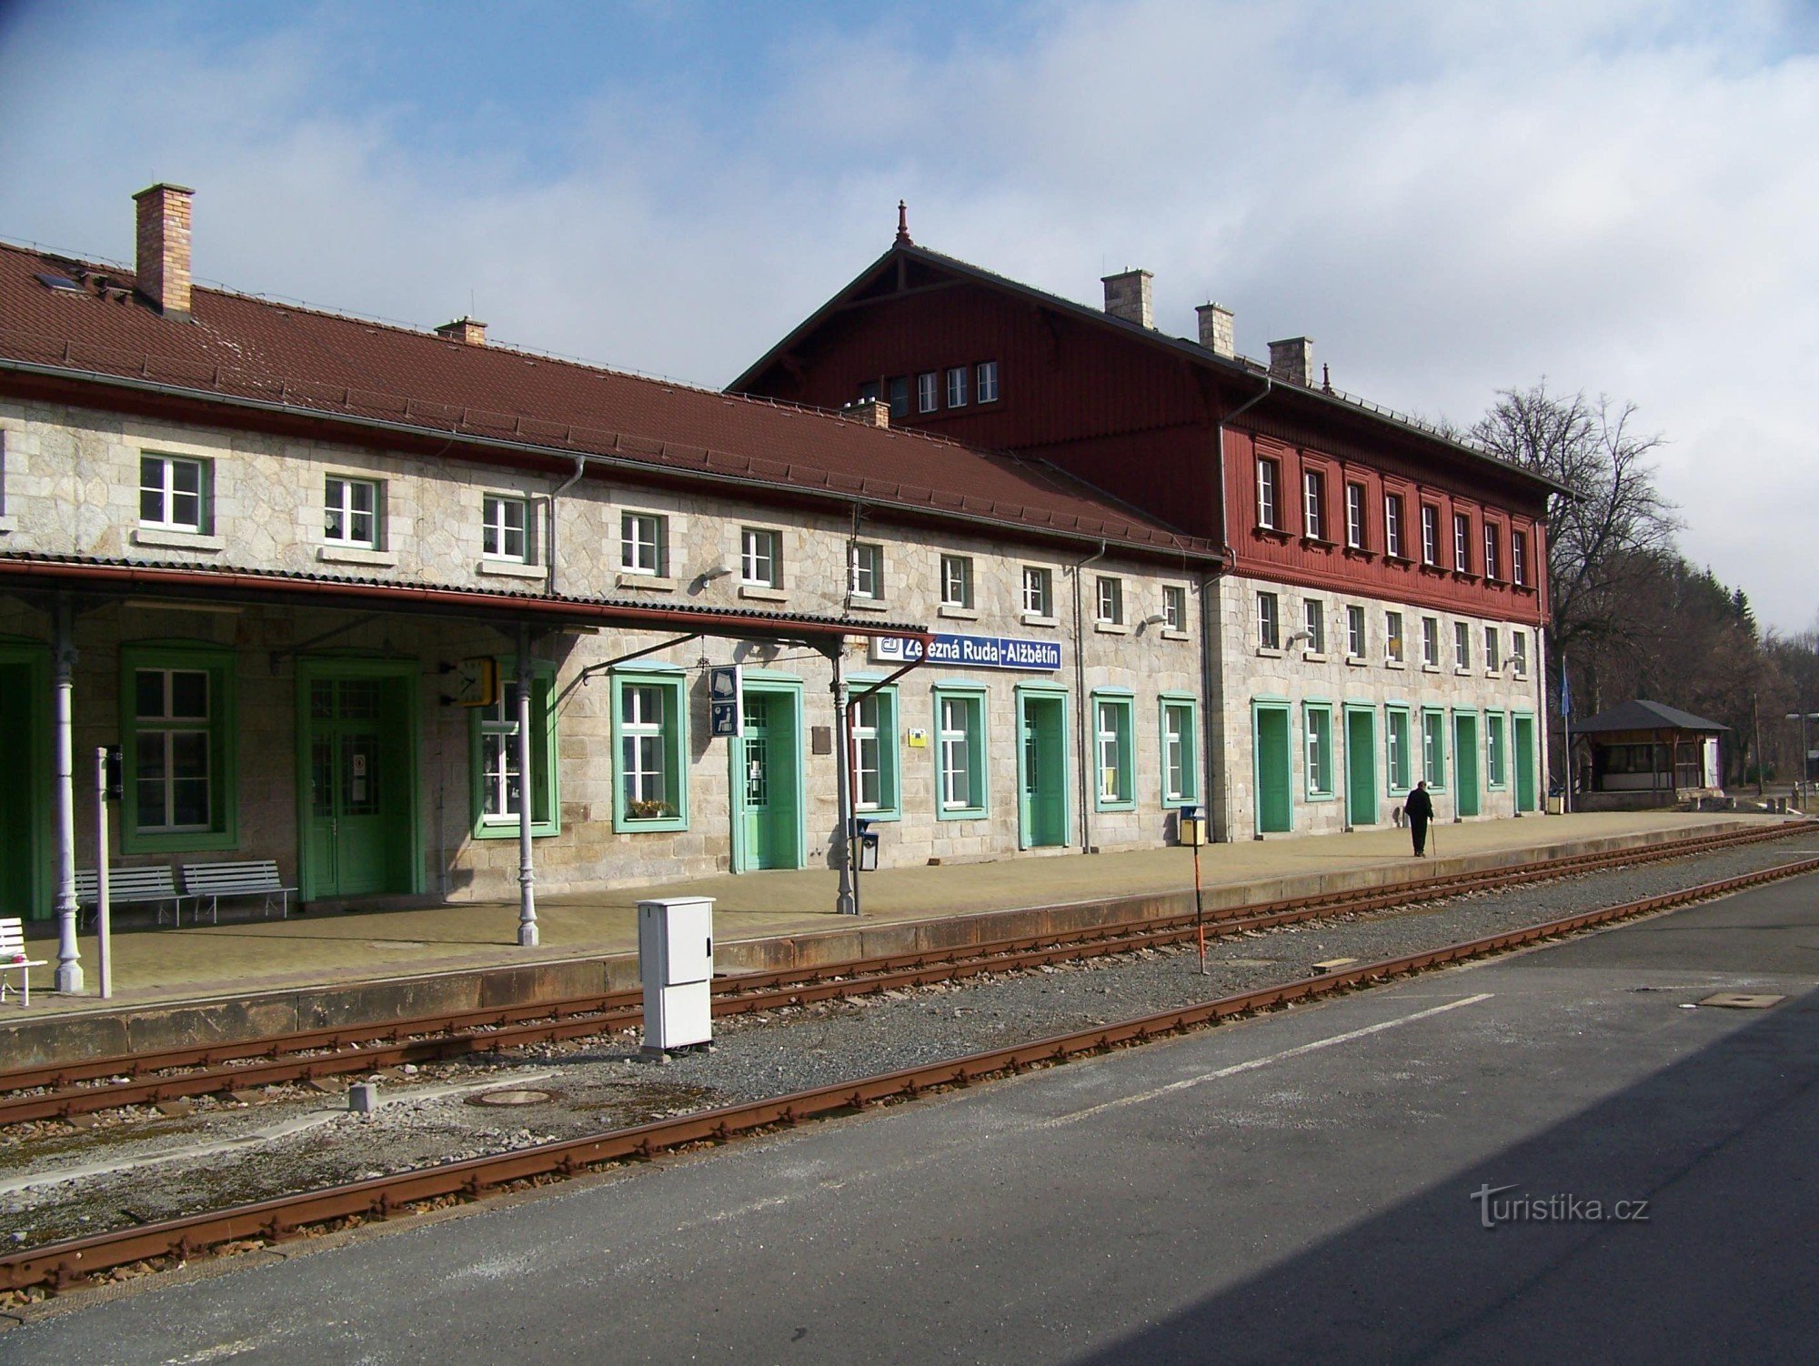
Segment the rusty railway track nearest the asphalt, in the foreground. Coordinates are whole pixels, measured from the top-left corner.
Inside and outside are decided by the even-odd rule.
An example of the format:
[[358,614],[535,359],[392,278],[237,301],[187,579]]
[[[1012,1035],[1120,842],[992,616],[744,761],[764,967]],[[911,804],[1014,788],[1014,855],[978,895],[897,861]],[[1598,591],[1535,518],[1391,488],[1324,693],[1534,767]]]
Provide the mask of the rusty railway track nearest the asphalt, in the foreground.
[[120,1268],[164,1270],[215,1250],[253,1250],[282,1244],[313,1231],[333,1231],[367,1220],[415,1213],[451,1200],[478,1200],[487,1193],[562,1180],[597,1166],[649,1160],[660,1153],[700,1144],[722,1144],[742,1135],[860,1111],[879,1102],[913,1100],[931,1091],[970,1086],[988,1077],[1017,1075],[1031,1068],[1055,1066],[1130,1044],[1144,1044],[1233,1017],[1368,988],[1397,977],[1506,953],[1583,929],[1815,871],[1819,871],[1819,859],[1806,859],[1719,882],[1644,897],[1623,906],[1548,920],[1524,929],[1422,949],[1399,959],[1344,968],[1322,977],[1281,982],[1197,1006],[1051,1035],[1026,1044],[970,1053],[860,1080],[706,1110],[491,1157],[347,1182],[233,1210],[45,1244],[42,1248],[0,1255],[0,1290],[47,1288],[53,1293],[64,1291],[91,1277]]

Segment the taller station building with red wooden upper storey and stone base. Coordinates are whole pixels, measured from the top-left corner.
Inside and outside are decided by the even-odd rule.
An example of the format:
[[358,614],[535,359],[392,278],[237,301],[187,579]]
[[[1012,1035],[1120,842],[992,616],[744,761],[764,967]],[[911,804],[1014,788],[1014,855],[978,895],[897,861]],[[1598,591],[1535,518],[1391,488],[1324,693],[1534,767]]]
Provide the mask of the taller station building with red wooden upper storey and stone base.
[[1088,307],[891,247],[729,389],[882,402],[893,426],[1042,458],[1219,547],[1195,582],[1221,839],[1541,809],[1546,509],[1561,487],[1315,377],[1233,313],[1157,326],[1151,276]]

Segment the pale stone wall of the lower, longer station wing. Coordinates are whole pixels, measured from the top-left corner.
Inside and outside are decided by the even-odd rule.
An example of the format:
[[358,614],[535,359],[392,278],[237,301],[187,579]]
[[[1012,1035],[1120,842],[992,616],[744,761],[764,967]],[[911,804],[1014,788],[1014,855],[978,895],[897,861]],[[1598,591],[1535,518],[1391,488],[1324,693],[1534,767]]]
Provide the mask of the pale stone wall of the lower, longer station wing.
[[[849,517],[811,511],[760,489],[682,491],[608,480],[593,471],[558,495],[560,477],[506,466],[409,458],[89,407],[0,402],[0,438],[7,518],[0,522],[0,551],[7,553],[276,569],[329,584],[357,578],[540,593],[549,584],[553,526],[555,586],[562,595],[848,617],[855,624],[926,622],[942,633],[1051,644],[1059,648],[1053,669],[930,662],[895,684],[895,724],[880,737],[891,746],[897,778],[893,809],[880,817],[882,864],[986,859],[1020,848],[1019,689],[1031,688],[1066,698],[1068,820],[1057,848],[1079,849],[1082,840],[1095,848],[1142,848],[1171,833],[1179,800],[1164,800],[1162,791],[1161,706],[1164,695],[1177,706],[1199,697],[1197,600],[1188,575],[1121,558],[1115,549],[1075,569],[1077,555],[1057,553],[1037,537],[1013,540],[1008,527],[959,522],[940,527],[928,518],[906,526],[869,517],[855,527]],[[202,513],[193,527],[146,526],[144,457],[200,467]],[[327,538],[329,480],[371,489],[373,497],[362,504],[375,517],[369,537],[362,527],[366,544]],[[487,555],[489,495],[522,500],[528,509],[518,560]],[[657,518],[658,533],[655,562],[635,564],[631,571],[622,544],[628,515]],[[640,526],[649,527],[649,522]],[[751,582],[746,531],[775,537],[768,542],[775,549],[773,584]],[[868,547],[866,562],[877,569],[873,597],[848,593],[848,555],[855,542]],[[873,553],[877,560],[869,560]],[[964,606],[942,602],[944,557],[966,560]],[[1026,567],[1046,573],[1046,613],[1022,609]],[[1100,580],[1117,584],[1119,622],[1095,620]],[[1164,588],[1175,591],[1171,622],[1162,620]],[[0,637],[47,642],[45,606],[45,598],[29,593],[0,597]],[[271,857],[295,880],[313,839],[306,815],[315,791],[315,778],[306,773],[313,733],[304,715],[309,680],[364,671],[397,680],[402,691],[393,693],[400,708],[395,715],[415,717],[407,737],[413,809],[397,833],[409,840],[415,866],[409,879],[395,879],[384,891],[449,899],[515,895],[517,822],[487,822],[478,813],[480,728],[475,711],[453,698],[462,660],[497,657],[509,671],[517,638],[509,624],[495,624],[497,613],[477,611],[471,618],[417,615],[407,608],[375,613],[367,604],[338,606],[333,597],[317,597],[311,606],[267,600],[198,611],[135,589],[98,591],[75,606],[78,755],[122,740],[120,689],[129,673],[126,660],[138,657],[135,651],[169,646],[231,657],[231,669],[216,677],[220,706],[227,706],[229,691],[233,698],[235,771],[220,778],[218,800],[235,804],[235,819],[196,848],[167,835],[156,849],[129,851],[124,862]],[[668,880],[739,862],[733,742],[708,735],[704,664],[744,664],[751,686],[773,689],[797,708],[793,753],[779,760],[780,773],[789,764],[800,766],[800,840],[786,859],[809,866],[829,860],[837,837],[829,660],[791,644],[788,626],[777,624],[755,626],[751,640],[693,638],[615,669],[613,660],[680,633],[600,628],[542,631],[533,638],[533,660],[549,666],[558,755],[557,809],[540,826],[548,833],[535,840],[542,889]],[[897,668],[875,657],[880,653],[886,651],[868,651],[862,640],[851,640],[842,658],[848,677],[864,686]],[[675,680],[686,698],[688,735],[680,753],[686,802],[678,802],[686,819],[658,822],[662,829],[628,828],[615,673]],[[982,689],[984,802],[979,815],[964,819],[942,819],[939,802],[939,689],[953,686]],[[1102,778],[1093,757],[1095,695],[1113,698],[1111,715],[1126,718],[1121,762],[1130,771],[1119,775],[1124,800],[1106,802],[1095,793]],[[1193,724],[1199,740],[1204,718],[1197,704]],[[226,738],[216,737],[222,744]],[[1197,782],[1193,789],[1199,791]],[[78,782],[76,857],[84,868],[95,860],[87,833],[91,800],[87,784]]]

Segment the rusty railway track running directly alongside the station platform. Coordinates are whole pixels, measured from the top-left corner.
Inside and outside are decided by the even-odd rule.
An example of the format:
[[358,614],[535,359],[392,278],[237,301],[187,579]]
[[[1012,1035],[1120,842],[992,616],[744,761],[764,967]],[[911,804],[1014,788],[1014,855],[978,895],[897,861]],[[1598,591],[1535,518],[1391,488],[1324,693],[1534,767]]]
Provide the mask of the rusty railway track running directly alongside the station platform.
[[[1517,868],[1453,873],[1386,888],[1299,897],[1224,908],[1204,920],[1208,937],[1304,924],[1330,915],[1357,915],[1523,886],[1612,868],[1684,859],[1746,844],[1786,839],[1803,824],[1706,835],[1657,846],[1581,853]],[[1024,971],[1051,962],[1131,953],[1191,940],[1202,926],[1193,915],[1135,920],[1066,935],[1031,935],[933,953],[859,959],[811,969],[717,979],[719,1017],[862,997],[957,980],[982,973]],[[475,1053],[549,1044],[631,1030],[642,1024],[637,989],[444,1013],[377,1026],[338,1026],[236,1044],[164,1050],[0,1073],[0,1126],[69,1120],[76,1115],[155,1106],[200,1095],[251,1093],[256,1088],[311,1082],[382,1068],[422,1064]]]

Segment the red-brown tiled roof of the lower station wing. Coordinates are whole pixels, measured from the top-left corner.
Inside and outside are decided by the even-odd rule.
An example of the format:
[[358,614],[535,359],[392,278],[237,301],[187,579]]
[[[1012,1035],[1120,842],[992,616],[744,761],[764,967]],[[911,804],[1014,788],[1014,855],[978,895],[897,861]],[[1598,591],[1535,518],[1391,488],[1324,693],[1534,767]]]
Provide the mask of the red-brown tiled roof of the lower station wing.
[[[40,273],[78,278],[51,289]],[[0,244],[0,366],[600,455],[1166,549],[1215,547],[1062,471],[913,431],[198,287],[158,315],[133,275]]]

